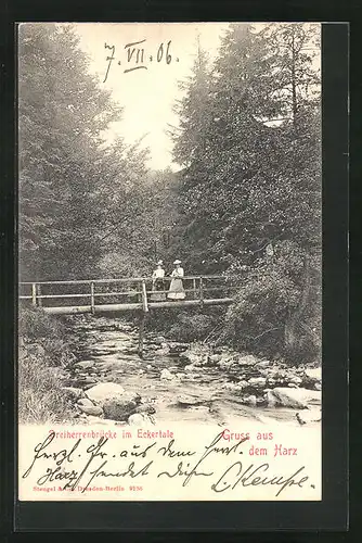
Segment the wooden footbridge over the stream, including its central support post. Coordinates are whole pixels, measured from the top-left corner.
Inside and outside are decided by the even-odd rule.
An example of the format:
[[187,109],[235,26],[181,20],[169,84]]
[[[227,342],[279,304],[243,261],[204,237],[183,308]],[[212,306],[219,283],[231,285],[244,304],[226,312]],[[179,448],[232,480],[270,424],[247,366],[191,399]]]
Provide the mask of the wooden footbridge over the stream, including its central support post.
[[139,312],[139,353],[142,355],[150,311],[231,304],[235,290],[232,279],[217,275],[183,277],[183,300],[167,299],[170,277],[165,277],[165,290],[161,291],[152,290],[152,279],[147,277],[21,282],[20,300],[53,315]]

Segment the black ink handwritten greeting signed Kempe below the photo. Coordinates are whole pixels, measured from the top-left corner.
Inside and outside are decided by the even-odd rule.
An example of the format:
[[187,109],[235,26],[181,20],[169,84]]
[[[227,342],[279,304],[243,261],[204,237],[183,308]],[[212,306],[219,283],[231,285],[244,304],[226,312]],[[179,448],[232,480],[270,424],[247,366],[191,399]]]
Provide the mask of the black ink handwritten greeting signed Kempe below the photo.
[[[296,487],[302,488],[309,480],[305,475],[305,466],[301,466],[293,475],[282,476],[267,472],[270,470],[270,465],[263,463],[260,465],[250,464],[244,467],[240,459],[235,459],[235,455],[242,455],[242,444],[248,440],[244,438],[232,446],[220,446],[220,441],[223,440],[223,432],[218,433],[212,441],[205,446],[204,453],[199,456],[196,451],[184,451],[176,447],[176,440],[170,440],[167,445],[158,446],[157,441],[154,441],[147,446],[140,447],[133,445],[132,450],[121,451],[118,455],[111,454],[105,451],[105,445],[108,441],[106,438],[101,438],[96,443],[92,443],[86,450],[86,463],[79,469],[72,469],[76,459],[79,459],[81,452],[81,439],[73,445],[72,449],[62,449],[51,452],[55,433],[51,432],[47,438],[34,447],[34,457],[29,467],[24,471],[22,478],[26,479],[31,473],[34,466],[39,460],[50,460],[52,467],[47,467],[46,471],[38,478],[37,484],[44,485],[53,481],[63,481],[63,490],[76,490],[80,481],[87,481],[82,485],[82,493],[89,488],[94,478],[139,478],[146,477],[153,469],[156,471],[154,459],[151,455],[156,455],[163,458],[172,458],[178,462],[172,469],[156,472],[157,478],[177,479],[182,481],[182,487],[186,487],[193,478],[209,477],[211,478],[210,489],[216,493],[233,491],[240,487],[257,487],[257,485],[275,485],[277,488],[276,496],[279,496],[286,488]],[[206,458],[211,455],[222,455],[222,457],[231,457],[233,460],[222,475],[216,475],[214,470],[207,470],[203,464]],[[109,469],[117,462],[117,456],[122,459],[128,458],[126,468]],[[128,464],[128,465],[127,465]],[[216,463],[217,464],[217,463]],[[67,469],[65,469],[65,466]],[[68,467],[70,466],[70,467]],[[214,476],[214,477],[212,477]]]

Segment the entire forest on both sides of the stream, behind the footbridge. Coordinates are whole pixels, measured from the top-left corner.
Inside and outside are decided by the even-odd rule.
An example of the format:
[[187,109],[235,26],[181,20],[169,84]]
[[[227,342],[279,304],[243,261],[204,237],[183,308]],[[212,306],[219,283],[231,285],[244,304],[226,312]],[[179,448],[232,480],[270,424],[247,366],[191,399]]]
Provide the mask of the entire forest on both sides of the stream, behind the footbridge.
[[[293,364],[321,351],[319,25],[233,24],[180,81],[171,168],[104,132],[122,104],[89,72],[72,25],[21,27],[20,280],[232,276],[229,308],[152,326]],[[152,129],[152,127],[151,127]],[[221,326],[222,323],[222,326]]]

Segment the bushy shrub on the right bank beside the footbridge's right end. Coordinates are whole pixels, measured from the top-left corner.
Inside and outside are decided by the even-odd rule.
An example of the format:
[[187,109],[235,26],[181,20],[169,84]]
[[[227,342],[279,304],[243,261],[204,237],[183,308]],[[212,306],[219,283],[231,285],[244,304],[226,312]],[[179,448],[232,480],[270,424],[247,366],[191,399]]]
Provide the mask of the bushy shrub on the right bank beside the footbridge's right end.
[[[315,275],[315,269],[312,273]],[[220,339],[255,354],[282,355],[293,364],[318,357],[321,350],[316,317],[321,307],[319,283],[310,289],[308,303],[296,323],[293,350],[286,343],[287,323],[300,305],[303,280],[301,251],[281,244],[275,258],[260,263],[241,281]]]

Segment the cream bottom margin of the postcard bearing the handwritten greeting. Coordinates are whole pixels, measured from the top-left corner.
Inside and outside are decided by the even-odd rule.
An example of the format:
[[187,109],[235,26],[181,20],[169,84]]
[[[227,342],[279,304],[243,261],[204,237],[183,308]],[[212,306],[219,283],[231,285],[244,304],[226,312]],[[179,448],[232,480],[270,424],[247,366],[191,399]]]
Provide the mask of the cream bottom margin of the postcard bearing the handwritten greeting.
[[23,500],[320,500],[315,456],[261,446],[273,432],[43,430],[22,445]]

